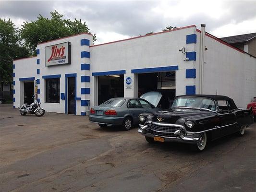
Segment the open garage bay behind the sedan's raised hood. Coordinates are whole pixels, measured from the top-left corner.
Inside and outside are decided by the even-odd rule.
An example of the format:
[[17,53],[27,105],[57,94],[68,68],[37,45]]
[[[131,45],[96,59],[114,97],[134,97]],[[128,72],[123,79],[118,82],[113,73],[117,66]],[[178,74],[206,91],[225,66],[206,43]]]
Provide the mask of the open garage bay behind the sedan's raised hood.
[[149,91],[158,91],[163,96],[158,107],[170,108],[175,92],[175,71],[138,73],[138,97]]

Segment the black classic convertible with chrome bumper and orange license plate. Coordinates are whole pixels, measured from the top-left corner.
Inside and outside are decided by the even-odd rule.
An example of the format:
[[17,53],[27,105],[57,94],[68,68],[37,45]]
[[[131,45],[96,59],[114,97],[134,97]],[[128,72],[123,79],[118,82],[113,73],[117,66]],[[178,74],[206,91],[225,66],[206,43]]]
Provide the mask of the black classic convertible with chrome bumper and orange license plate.
[[237,108],[227,96],[185,95],[175,97],[170,109],[140,114],[139,120],[138,132],[149,143],[190,143],[202,151],[209,140],[235,132],[244,135],[253,123],[253,112],[252,108]]

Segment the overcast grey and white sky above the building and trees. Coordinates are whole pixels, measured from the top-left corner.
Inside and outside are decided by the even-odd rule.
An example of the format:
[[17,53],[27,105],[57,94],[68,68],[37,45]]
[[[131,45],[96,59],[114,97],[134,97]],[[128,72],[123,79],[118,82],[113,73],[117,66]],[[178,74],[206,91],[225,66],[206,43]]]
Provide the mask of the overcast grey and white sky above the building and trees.
[[206,24],[217,37],[256,32],[256,1],[0,1],[0,18],[20,27],[50,17],[82,19],[96,33],[96,44],[162,31],[166,26]]

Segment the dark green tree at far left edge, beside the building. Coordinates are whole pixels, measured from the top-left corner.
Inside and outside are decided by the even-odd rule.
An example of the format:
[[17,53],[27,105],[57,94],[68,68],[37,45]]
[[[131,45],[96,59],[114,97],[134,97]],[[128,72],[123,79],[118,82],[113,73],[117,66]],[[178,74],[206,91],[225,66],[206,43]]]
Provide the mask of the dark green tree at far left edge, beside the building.
[[12,62],[29,56],[12,21],[0,18],[0,82],[12,82]]

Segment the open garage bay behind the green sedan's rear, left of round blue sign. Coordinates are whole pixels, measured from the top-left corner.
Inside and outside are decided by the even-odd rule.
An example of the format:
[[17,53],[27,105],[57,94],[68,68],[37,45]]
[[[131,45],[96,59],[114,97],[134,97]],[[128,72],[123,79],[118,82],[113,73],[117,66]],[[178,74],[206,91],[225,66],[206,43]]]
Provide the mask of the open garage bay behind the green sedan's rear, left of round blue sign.
[[123,74],[98,76],[98,105],[113,97],[123,97]]

